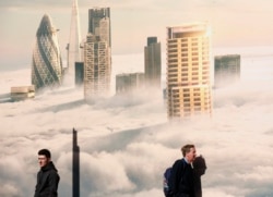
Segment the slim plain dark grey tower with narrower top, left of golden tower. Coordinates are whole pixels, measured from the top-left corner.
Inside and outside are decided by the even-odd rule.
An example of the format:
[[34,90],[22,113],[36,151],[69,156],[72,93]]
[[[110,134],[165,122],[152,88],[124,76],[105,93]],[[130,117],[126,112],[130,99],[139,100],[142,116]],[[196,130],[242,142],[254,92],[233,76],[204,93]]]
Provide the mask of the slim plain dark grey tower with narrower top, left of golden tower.
[[147,46],[144,48],[145,58],[145,82],[146,85],[161,87],[162,77],[162,49],[157,37],[149,37]]

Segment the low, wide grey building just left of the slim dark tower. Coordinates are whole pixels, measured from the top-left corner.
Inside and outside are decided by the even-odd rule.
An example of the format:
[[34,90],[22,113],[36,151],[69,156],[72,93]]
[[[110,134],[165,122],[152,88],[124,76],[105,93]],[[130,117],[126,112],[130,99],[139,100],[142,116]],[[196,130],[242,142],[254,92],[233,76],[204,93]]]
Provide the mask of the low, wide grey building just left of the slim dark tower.
[[116,94],[128,94],[144,87],[144,73],[116,75]]

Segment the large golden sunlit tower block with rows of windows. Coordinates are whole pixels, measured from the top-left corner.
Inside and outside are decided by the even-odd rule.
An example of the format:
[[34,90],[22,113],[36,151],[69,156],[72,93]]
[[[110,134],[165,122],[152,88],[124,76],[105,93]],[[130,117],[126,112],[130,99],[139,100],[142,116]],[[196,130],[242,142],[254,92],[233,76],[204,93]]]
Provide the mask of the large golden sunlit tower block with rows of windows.
[[167,27],[167,102],[169,119],[211,114],[206,24]]

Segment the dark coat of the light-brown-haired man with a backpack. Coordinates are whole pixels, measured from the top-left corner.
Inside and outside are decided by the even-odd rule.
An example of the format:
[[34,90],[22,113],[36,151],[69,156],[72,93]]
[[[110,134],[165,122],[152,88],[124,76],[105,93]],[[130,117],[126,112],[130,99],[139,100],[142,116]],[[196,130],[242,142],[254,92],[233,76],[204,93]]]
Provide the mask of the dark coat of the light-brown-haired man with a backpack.
[[170,181],[175,197],[194,197],[193,169],[185,159],[174,163]]

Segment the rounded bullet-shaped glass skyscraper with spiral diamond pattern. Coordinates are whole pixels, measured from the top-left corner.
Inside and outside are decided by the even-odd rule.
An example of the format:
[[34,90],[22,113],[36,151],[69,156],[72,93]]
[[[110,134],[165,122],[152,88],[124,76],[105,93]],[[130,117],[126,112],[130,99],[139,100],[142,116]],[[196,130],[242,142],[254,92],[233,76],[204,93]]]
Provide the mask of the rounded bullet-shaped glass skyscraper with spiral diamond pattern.
[[36,90],[61,85],[62,62],[57,32],[50,17],[45,14],[36,33],[33,51],[32,84]]

